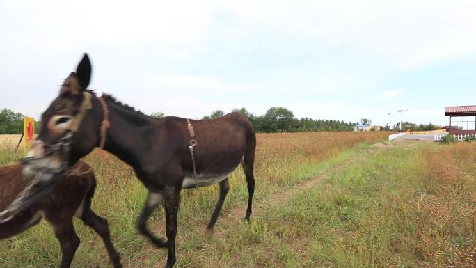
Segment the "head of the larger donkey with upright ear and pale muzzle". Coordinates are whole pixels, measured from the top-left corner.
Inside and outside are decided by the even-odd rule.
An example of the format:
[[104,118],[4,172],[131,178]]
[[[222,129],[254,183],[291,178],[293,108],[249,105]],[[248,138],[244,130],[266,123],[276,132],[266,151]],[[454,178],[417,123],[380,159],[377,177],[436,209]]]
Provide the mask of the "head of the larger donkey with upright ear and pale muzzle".
[[[31,146],[29,157],[42,158],[45,166],[61,165],[59,154],[47,155],[65,136],[71,136],[69,164],[87,155],[99,143],[102,112],[97,97],[86,88],[91,77],[88,55],[63,82],[58,97],[42,114],[42,126],[36,141]],[[51,150],[50,150],[51,151]]]

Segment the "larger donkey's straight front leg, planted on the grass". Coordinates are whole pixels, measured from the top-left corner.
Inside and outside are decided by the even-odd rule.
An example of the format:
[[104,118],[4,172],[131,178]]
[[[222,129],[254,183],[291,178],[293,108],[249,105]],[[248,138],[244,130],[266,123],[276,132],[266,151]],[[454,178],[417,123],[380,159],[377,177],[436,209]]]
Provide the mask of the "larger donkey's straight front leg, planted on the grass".
[[166,268],[175,264],[175,236],[177,235],[177,213],[180,205],[180,188],[166,189],[164,191],[164,205],[167,219],[167,244],[168,257]]

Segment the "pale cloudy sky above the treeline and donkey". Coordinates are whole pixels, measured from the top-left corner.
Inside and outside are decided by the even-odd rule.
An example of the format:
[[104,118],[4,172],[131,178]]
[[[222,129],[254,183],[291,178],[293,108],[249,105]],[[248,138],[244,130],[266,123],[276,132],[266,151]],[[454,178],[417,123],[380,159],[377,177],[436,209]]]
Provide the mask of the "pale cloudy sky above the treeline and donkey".
[[89,88],[148,114],[278,106],[297,118],[447,125],[445,106],[476,104],[475,10],[475,1],[0,0],[0,109],[39,119],[87,52]]

